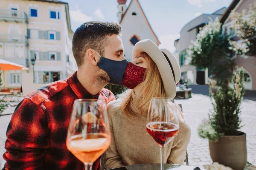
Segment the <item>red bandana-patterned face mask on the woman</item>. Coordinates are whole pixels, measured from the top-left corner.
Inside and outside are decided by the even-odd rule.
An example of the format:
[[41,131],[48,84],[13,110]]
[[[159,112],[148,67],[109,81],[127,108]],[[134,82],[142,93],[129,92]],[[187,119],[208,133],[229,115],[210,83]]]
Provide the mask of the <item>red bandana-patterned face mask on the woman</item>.
[[144,81],[146,69],[129,62],[122,79],[122,85],[134,89]]

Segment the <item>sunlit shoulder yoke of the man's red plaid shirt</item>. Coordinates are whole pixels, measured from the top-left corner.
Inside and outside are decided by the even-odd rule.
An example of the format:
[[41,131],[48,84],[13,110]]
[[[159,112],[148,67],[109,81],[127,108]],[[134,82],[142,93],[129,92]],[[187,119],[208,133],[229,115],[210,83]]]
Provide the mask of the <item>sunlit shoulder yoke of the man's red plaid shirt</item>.
[[27,94],[24,99],[29,99],[34,102],[36,105],[40,105],[45,100],[51,98],[56,93],[62,91],[64,88],[68,86],[67,79],[59,80],[56,82],[52,82],[38,88],[35,91]]

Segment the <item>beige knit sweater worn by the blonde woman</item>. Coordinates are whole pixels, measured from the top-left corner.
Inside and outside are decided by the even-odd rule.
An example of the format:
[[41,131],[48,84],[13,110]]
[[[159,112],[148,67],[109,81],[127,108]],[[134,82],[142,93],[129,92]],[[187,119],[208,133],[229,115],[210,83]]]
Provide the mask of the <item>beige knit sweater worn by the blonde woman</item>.
[[[120,99],[108,104],[111,144],[103,158],[106,168],[131,164],[160,163],[160,147],[146,130],[147,113],[141,113],[133,93],[131,108],[140,116],[131,118],[120,109]],[[178,135],[165,147],[164,163],[183,164],[190,140],[190,128],[179,116]]]

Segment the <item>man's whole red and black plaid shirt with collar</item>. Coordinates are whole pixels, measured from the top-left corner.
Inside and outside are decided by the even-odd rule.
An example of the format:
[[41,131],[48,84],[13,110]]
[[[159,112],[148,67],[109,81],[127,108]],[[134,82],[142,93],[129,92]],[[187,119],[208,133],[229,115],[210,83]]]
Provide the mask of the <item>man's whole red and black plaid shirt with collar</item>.
[[[91,95],[76,73],[28,94],[7,128],[3,170],[83,170],[83,163],[67,150],[67,130],[74,100],[96,98],[108,103],[115,96],[107,89]],[[99,160],[93,170],[100,169]]]

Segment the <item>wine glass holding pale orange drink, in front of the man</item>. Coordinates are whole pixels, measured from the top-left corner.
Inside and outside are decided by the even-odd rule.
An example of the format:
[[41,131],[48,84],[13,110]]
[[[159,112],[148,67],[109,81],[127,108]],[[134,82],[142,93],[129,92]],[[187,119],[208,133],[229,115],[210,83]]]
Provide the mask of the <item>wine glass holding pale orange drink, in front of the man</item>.
[[76,99],[67,132],[67,149],[92,170],[93,162],[111,142],[106,103],[97,99]]

